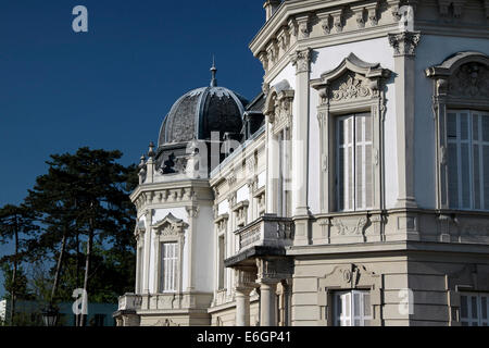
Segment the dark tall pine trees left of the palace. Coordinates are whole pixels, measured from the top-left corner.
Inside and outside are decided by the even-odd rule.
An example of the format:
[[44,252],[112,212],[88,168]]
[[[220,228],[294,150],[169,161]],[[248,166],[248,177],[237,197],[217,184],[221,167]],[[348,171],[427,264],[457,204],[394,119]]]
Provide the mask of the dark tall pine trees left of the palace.
[[[48,274],[37,273],[25,283],[38,299],[73,301],[73,290],[85,287],[89,302],[116,302],[134,289],[136,210],[128,195],[138,177],[137,166],[120,164],[121,158],[120,151],[87,147],[52,154],[48,172],[28,191],[22,206],[25,220],[17,223],[18,254],[2,261],[49,265]],[[13,237],[15,208],[0,210],[0,241]]]

